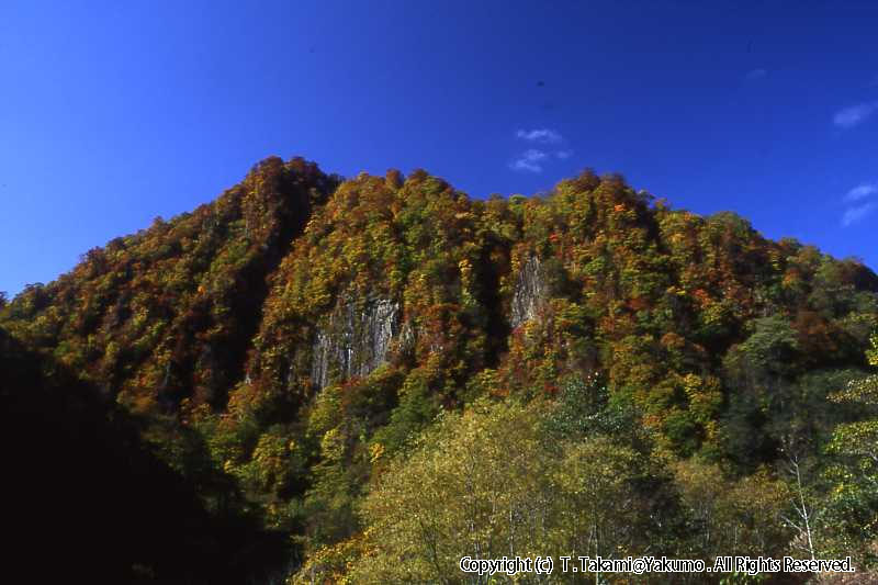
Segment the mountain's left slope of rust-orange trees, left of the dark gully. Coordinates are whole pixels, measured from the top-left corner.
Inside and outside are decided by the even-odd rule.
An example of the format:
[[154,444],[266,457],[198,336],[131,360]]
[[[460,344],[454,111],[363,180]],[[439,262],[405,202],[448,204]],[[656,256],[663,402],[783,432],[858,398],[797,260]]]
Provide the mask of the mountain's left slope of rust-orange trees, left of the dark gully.
[[269,158],[215,202],[89,251],[32,286],[4,326],[133,412],[222,405],[257,329],[267,277],[336,179]]

